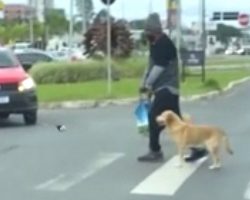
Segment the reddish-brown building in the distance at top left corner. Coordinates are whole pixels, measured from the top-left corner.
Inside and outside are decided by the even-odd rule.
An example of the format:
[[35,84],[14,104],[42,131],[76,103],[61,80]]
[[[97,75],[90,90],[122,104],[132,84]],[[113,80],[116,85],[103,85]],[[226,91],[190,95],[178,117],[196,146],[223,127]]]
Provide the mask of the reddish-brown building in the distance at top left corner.
[[27,21],[32,13],[32,8],[24,4],[6,4],[4,7],[4,19],[6,21]]

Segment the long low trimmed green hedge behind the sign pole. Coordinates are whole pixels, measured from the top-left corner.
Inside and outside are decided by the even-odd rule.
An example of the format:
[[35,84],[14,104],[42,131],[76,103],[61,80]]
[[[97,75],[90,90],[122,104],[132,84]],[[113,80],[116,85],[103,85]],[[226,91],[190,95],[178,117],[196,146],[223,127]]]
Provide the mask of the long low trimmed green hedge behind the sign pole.
[[[146,59],[129,58],[114,60],[112,63],[112,78],[135,78],[142,76]],[[84,60],[77,62],[39,63],[30,69],[31,76],[38,84],[76,83],[91,80],[101,80],[107,77],[105,60]]]

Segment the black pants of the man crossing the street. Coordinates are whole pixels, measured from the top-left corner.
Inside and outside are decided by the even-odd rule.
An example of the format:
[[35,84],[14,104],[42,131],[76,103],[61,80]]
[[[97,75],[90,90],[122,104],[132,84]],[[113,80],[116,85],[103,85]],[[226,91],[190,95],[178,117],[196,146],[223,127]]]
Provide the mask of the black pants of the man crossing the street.
[[155,94],[154,101],[152,102],[149,111],[149,146],[150,150],[154,152],[161,150],[159,140],[160,133],[164,129],[164,127],[157,124],[156,117],[165,110],[172,110],[181,117],[179,95],[171,93],[167,88],[164,88]]

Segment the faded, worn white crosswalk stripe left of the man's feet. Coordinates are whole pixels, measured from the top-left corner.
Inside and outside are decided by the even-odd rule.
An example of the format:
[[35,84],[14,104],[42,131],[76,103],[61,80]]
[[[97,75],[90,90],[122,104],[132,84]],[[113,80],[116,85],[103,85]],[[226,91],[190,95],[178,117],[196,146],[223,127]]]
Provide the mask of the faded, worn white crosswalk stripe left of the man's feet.
[[79,184],[83,180],[89,178],[90,176],[96,174],[102,168],[110,165],[122,156],[124,156],[122,153],[100,154],[98,155],[97,159],[91,162],[82,172],[73,175],[60,174],[56,178],[37,185],[35,190],[49,190],[59,192],[66,191]]

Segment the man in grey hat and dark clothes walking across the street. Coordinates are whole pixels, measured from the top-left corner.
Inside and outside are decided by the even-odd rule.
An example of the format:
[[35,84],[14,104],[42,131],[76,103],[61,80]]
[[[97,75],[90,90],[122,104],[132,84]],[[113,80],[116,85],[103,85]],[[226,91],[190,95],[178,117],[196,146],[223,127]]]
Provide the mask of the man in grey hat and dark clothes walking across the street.
[[[160,17],[157,13],[149,15],[145,34],[150,45],[149,67],[145,71],[140,93],[145,96],[152,92],[154,99],[149,111],[150,151],[140,156],[138,160],[157,162],[163,160],[159,138],[164,127],[157,124],[156,117],[168,109],[181,117],[178,57],[174,43],[162,31]],[[186,160],[194,161],[204,155],[206,155],[205,150],[192,149],[192,154]]]

